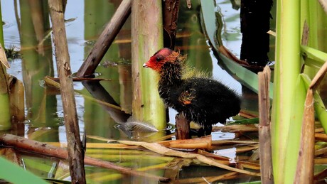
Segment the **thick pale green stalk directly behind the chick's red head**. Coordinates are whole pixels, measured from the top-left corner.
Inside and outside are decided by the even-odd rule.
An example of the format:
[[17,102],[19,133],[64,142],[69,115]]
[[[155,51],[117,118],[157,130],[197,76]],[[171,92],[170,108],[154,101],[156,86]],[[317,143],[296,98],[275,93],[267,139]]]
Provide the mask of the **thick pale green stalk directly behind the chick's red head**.
[[151,121],[157,129],[166,126],[166,110],[158,93],[156,72],[143,63],[164,46],[161,1],[132,4],[132,111],[134,119]]

